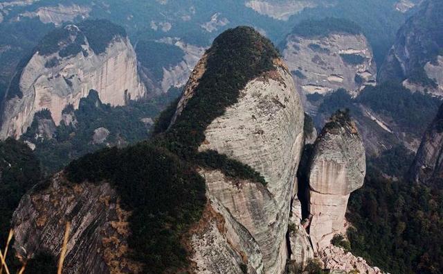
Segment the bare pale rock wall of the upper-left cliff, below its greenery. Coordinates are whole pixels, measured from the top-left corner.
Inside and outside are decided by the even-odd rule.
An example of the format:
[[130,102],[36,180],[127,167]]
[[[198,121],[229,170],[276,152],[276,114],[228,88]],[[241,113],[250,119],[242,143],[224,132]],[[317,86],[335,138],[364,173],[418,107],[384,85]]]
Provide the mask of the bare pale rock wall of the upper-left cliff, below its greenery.
[[[71,31],[69,39],[75,42],[81,31],[74,25],[66,28]],[[146,93],[138,78],[134,49],[128,38],[121,36],[114,37],[100,54],[91,49],[87,38],[76,55],[61,57],[60,51],[40,55],[37,51],[19,79],[22,96],[12,97],[3,107],[1,139],[18,138],[39,110],[50,110],[58,125],[66,105],[78,108],[90,89],[98,92],[103,103],[111,105],[125,105],[127,100],[141,99]]]

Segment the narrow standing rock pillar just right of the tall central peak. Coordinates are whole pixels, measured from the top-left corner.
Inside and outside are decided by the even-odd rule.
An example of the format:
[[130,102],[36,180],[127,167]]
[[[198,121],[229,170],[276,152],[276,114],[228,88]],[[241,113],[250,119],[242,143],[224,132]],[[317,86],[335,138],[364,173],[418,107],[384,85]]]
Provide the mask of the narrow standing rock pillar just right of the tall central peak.
[[314,144],[309,169],[309,235],[316,252],[345,232],[347,200],[363,186],[365,171],[365,148],[355,124],[329,122]]

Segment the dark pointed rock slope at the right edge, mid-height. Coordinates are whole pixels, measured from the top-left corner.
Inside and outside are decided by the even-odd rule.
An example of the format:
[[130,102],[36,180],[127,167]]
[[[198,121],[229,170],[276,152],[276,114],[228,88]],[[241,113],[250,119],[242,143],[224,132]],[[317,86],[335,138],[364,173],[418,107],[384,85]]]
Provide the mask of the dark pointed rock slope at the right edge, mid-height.
[[443,106],[424,133],[410,176],[415,182],[432,184],[443,178]]

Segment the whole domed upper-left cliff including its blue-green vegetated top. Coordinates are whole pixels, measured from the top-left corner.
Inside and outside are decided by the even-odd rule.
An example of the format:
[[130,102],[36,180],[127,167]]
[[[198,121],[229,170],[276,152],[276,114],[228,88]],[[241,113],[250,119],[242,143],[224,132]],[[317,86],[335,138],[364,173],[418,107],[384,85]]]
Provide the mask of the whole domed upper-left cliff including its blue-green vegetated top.
[[66,105],[78,108],[90,89],[111,105],[125,105],[146,92],[124,29],[104,20],[53,31],[24,61],[3,105],[2,139],[26,132],[39,110],[48,109],[58,125]]

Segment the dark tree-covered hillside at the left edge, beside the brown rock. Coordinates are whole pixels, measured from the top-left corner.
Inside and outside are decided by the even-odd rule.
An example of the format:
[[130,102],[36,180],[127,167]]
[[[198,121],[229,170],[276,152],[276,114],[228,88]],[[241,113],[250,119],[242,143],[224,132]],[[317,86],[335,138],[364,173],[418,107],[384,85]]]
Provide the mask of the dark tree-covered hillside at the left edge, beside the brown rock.
[[0,243],[6,243],[21,196],[41,178],[39,161],[26,144],[6,139],[0,142],[0,175]]

